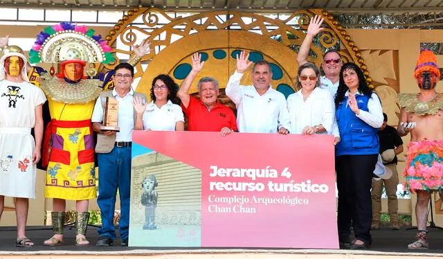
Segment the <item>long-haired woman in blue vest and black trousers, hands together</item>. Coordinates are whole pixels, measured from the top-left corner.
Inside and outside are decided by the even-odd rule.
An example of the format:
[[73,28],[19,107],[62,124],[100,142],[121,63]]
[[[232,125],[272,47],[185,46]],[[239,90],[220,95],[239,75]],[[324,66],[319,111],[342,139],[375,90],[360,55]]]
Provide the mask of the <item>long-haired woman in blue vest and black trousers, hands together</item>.
[[[354,63],[340,71],[335,96],[340,142],[336,145],[338,238],[349,249],[366,249],[372,240],[371,182],[379,154],[377,131],[383,124],[381,102]],[[355,239],[351,242],[351,224]]]

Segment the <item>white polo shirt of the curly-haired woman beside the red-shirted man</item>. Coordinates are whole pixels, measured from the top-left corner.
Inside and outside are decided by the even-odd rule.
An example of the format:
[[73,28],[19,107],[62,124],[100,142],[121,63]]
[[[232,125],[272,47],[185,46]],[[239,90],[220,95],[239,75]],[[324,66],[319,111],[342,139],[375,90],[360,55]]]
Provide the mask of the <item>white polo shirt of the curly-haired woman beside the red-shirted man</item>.
[[175,130],[177,121],[185,121],[183,111],[179,105],[174,105],[171,100],[161,108],[154,101],[146,106],[143,114],[143,128],[145,130]]

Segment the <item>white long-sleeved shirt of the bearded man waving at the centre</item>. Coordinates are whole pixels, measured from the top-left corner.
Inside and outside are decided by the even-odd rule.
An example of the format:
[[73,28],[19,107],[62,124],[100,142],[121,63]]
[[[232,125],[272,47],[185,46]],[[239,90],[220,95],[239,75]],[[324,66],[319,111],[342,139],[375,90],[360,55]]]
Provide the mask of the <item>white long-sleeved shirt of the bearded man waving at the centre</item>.
[[262,96],[253,85],[241,86],[243,74],[235,71],[226,86],[226,96],[237,106],[239,132],[275,133],[280,127],[290,128],[286,98],[269,87]]

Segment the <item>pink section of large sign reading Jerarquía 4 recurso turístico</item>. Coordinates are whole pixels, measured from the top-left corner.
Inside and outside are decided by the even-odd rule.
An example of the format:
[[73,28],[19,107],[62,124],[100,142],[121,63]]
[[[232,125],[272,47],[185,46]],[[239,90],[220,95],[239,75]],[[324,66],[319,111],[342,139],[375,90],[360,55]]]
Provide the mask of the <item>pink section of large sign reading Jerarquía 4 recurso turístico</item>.
[[136,131],[133,141],[133,157],[138,144],[201,170],[201,247],[338,249],[333,136]]

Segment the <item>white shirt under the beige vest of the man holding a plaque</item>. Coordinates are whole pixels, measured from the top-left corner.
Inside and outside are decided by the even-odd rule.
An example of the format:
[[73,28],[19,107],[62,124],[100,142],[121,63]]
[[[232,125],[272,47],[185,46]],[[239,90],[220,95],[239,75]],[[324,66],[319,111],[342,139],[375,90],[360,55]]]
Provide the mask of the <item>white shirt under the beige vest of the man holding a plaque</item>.
[[[131,89],[125,97],[120,97],[116,89],[112,90],[112,96],[118,100],[118,127],[120,132],[117,132],[116,141],[132,141],[132,130],[134,130],[134,107],[132,106],[132,98],[134,91]],[[103,107],[100,98],[96,101],[94,111],[92,113],[91,121],[93,123],[102,123],[103,121]]]

